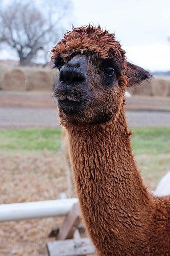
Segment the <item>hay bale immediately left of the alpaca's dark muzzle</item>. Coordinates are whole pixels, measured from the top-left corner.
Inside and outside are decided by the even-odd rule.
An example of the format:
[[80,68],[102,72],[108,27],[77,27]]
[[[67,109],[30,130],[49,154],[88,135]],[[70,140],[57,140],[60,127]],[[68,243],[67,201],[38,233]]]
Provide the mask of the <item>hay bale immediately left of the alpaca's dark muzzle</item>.
[[53,88],[53,77],[49,71],[30,70],[28,71],[29,90],[51,90]]

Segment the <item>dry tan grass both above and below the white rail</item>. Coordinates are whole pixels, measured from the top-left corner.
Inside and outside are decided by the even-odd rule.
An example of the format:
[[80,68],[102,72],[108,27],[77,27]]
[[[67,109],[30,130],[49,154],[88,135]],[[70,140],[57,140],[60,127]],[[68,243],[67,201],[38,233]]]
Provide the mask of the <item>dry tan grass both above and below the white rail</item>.
[[[65,158],[44,151],[41,155],[1,155],[0,203],[56,199],[67,190]],[[61,218],[1,223],[1,255],[46,255],[48,233]]]

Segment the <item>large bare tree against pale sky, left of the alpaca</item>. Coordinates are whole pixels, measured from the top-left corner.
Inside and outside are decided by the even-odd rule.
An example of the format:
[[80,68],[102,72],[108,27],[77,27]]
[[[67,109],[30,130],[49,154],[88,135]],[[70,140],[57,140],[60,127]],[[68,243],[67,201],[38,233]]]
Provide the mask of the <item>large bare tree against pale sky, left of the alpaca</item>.
[[0,10],[0,44],[17,51],[21,66],[30,65],[40,50],[47,51],[49,42],[58,40],[70,4],[55,0],[44,3],[41,11],[32,1],[12,1]]

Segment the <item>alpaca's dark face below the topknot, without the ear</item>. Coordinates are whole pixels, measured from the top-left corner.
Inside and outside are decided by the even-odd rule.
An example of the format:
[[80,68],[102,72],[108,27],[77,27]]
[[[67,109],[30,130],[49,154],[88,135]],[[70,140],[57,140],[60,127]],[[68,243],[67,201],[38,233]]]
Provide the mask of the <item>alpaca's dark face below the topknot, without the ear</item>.
[[114,59],[91,54],[56,56],[55,86],[60,116],[67,122],[100,124],[116,115],[125,87],[119,87],[121,67]]

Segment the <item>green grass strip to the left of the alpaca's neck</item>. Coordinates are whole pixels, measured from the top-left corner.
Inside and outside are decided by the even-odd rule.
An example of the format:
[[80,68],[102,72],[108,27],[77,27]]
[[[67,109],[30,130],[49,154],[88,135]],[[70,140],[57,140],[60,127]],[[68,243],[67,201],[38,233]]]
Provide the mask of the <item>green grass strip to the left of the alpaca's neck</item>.
[[0,131],[0,153],[33,154],[44,150],[57,153],[61,144],[61,127]]

